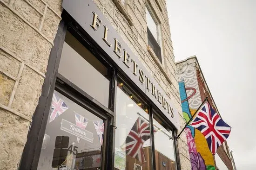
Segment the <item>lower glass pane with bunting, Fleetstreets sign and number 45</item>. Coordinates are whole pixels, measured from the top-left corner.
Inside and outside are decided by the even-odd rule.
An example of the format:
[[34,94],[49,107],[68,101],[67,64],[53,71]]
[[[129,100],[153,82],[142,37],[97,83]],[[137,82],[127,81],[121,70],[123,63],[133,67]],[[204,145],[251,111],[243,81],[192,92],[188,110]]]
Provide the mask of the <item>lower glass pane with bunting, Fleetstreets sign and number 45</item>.
[[101,168],[104,122],[54,91],[38,170]]

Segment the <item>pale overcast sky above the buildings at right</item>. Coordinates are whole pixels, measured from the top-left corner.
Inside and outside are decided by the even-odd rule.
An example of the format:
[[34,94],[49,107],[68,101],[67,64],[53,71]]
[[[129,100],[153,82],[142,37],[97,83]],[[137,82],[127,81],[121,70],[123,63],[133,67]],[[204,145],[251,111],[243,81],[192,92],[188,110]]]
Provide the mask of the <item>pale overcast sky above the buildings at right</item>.
[[175,61],[196,55],[237,170],[256,170],[256,0],[167,0]]

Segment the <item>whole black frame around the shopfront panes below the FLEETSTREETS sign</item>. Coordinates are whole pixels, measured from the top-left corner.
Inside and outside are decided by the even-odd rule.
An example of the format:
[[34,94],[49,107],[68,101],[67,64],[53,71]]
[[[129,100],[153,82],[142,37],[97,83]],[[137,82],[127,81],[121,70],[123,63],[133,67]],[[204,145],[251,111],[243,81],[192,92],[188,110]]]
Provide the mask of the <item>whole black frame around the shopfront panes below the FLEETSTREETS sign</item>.
[[[92,111],[97,116],[106,120],[104,134],[106,134],[103,141],[102,155],[102,169],[112,170],[114,169],[115,161],[115,114],[116,114],[116,90],[117,90],[117,77],[120,76],[128,85],[132,87],[137,94],[143,96],[142,99],[148,106],[148,114],[150,121],[151,132],[151,159],[152,167],[155,170],[155,144],[154,144],[154,125],[153,125],[153,110],[157,113],[157,116],[170,127],[173,133],[173,139],[175,139],[175,126],[172,123],[164,119],[164,114],[155,106],[155,104],[136,86],[134,82],[121,70],[118,69],[115,63],[111,63],[108,56],[101,47],[94,42],[94,40],[84,31],[81,26],[64,10],[62,12],[62,20],[60,22],[56,37],[54,39],[54,46],[50,52],[47,73],[45,82],[42,87],[42,93],[39,99],[39,104],[34,112],[32,123],[29,128],[27,142],[24,147],[19,169],[20,170],[36,170],[39,162],[40,151],[43,141],[43,136],[46,129],[47,118],[51,107],[51,99],[53,97],[54,90],[57,90],[61,94],[71,98],[80,106]],[[92,96],[84,92],[82,89],[68,81],[64,76],[58,73],[58,67],[61,59],[62,47],[65,40],[66,31],[69,31],[75,38],[78,39],[98,60],[101,61],[109,70],[111,75],[109,82],[109,101],[108,107],[97,102]],[[150,32],[150,31],[148,31]],[[153,36],[153,35],[152,35]],[[154,38],[154,37],[153,37]],[[155,38],[154,38],[155,40]],[[156,42],[157,43],[157,42]],[[97,107],[95,110],[93,107]],[[101,112],[101,113],[100,113]],[[104,114],[106,115],[104,115]],[[181,169],[180,160],[178,157],[177,141],[174,140],[175,148],[175,164],[176,169]]]

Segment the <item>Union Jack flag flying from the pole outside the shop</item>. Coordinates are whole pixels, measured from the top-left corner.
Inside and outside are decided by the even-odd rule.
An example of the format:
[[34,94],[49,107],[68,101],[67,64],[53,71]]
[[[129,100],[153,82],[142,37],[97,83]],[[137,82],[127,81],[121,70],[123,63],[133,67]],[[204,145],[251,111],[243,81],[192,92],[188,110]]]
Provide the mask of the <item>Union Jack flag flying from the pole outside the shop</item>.
[[231,127],[221,119],[208,102],[202,106],[190,126],[201,131],[214,155],[217,148],[229,137],[231,131]]

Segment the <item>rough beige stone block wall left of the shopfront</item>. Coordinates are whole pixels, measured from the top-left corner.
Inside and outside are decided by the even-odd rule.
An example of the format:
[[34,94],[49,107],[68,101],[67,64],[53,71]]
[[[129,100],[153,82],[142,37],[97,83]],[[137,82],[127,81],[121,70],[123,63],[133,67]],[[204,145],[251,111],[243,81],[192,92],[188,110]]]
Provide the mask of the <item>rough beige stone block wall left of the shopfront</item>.
[[0,170],[17,168],[61,10],[61,0],[0,0]]

